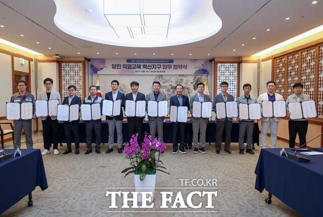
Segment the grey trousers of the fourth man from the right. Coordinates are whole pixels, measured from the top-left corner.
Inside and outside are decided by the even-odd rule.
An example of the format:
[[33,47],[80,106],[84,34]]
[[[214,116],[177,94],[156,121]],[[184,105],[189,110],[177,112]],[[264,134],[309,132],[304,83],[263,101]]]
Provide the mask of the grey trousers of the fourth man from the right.
[[224,121],[217,121],[216,150],[221,150],[223,130],[226,130],[226,144],[224,150],[230,150],[232,121],[227,118]]

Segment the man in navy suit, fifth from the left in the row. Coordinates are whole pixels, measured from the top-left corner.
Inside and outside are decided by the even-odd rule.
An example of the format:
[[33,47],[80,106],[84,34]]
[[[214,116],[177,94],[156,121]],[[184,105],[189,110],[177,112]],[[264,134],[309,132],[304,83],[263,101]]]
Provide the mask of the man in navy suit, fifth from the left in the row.
[[106,150],[105,153],[113,152],[113,142],[115,138],[115,128],[117,129],[117,143],[118,143],[118,153],[122,153],[122,120],[123,120],[123,112],[122,107],[125,106],[125,95],[118,91],[119,82],[117,80],[113,80],[111,82],[112,91],[105,94],[106,100],[116,101],[121,100],[120,107],[120,115],[118,116],[106,116],[107,122],[109,124],[109,149]]

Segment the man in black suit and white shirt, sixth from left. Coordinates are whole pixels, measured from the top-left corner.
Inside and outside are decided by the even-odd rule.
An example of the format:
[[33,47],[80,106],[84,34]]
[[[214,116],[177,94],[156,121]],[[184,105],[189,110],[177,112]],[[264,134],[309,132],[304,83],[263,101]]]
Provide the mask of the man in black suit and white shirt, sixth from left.
[[[125,100],[133,100],[133,101],[146,101],[146,97],[143,93],[138,92],[139,83],[131,82],[131,93],[127,94]],[[126,109],[126,108],[125,108]],[[142,121],[144,117],[132,117],[128,116],[128,131],[129,131],[129,141],[133,134],[138,133],[138,143],[141,144],[141,131],[142,131]]]

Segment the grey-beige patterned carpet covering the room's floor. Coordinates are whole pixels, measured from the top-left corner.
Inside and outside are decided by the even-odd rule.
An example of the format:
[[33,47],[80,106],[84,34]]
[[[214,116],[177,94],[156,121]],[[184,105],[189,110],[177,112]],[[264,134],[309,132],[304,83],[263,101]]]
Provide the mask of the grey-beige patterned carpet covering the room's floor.
[[[22,138],[24,140],[24,138]],[[34,148],[42,148],[42,136],[34,135]],[[23,148],[25,145],[23,143]],[[287,147],[288,144],[278,141],[277,147]],[[12,141],[5,144],[6,148],[12,148]],[[129,213],[106,211],[192,211],[196,209],[161,209],[161,196],[156,189],[153,209],[121,209],[121,199],[117,199],[119,208],[109,208],[111,197],[105,197],[107,187],[134,187],[133,176],[123,178],[120,171],[128,167],[129,160],[123,154],[114,152],[105,154],[106,144],[102,146],[102,154],[91,153],[84,155],[85,144],[81,144],[81,154],[74,153],[63,156],[66,146],[59,147],[60,155],[51,153],[43,156],[48,189],[41,191],[37,187],[33,191],[34,205],[27,207],[28,196],[8,209],[2,216],[299,216],[276,197],[273,203],[264,202],[267,192],[259,193],[254,189],[254,169],[259,156],[259,147],[256,147],[255,155],[239,155],[236,143],[232,144],[232,155],[221,152],[216,155],[214,144],[205,147],[207,154],[193,154],[189,150],[186,155],[172,154],[171,145],[163,156],[168,171],[172,175],[157,173],[156,187],[182,187],[180,179],[217,179],[218,196],[213,199],[214,209],[217,213],[205,212],[168,212],[168,213]],[[223,150],[223,148],[222,148]],[[21,180],[23,182],[23,180]],[[163,189],[167,191],[168,189]],[[177,190],[176,190],[177,191]],[[190,190],[191,191],[191,190]],[[175,192],[175,191],[174,191]],[[187,189],[182,190],[185,197]],[[175,195],[173,195],[173,200]],[[118,198],[118,197],[117,197]],[[185,200],[186,201],[186,200]],[[206,198],[201,200],[206,204]],[[196,202],[197,203],[197,202]],[[130,203],[129,203],[130,204]],[[172,204],[170,204],[171,206]]]

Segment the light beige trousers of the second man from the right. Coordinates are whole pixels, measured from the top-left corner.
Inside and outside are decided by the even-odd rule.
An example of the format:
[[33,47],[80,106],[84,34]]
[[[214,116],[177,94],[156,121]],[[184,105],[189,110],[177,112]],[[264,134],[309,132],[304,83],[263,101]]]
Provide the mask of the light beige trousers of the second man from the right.
[[270,148],[275,148],[276,140],[277,140],[278,121],[275,121],[275,118],[271,117],[269,118],[268,121],[261,120],[261,135],[260,135],[261,149],[266,148],[266,137],[267,137],[268,128],[270,128],[270,132],[271,132]]

